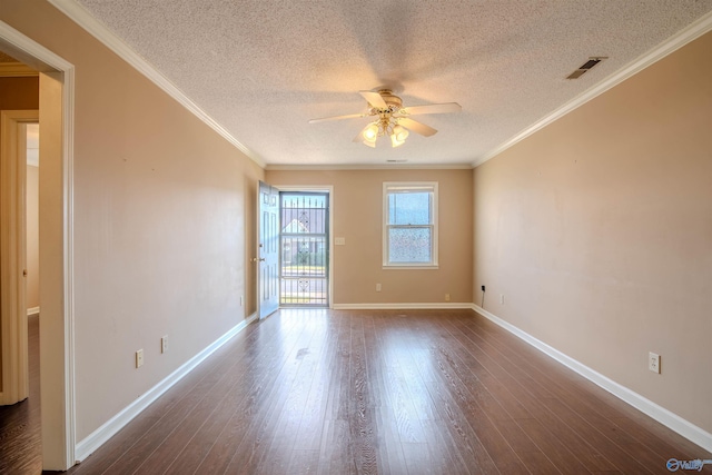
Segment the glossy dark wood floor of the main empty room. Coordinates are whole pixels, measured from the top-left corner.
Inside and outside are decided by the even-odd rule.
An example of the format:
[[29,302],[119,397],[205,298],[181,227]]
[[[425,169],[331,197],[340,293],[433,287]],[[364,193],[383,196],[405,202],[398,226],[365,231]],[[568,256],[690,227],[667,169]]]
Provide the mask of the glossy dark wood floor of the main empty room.
[[472,311],[289,309],[69,473],[669,474],[672,457],[712,454]]

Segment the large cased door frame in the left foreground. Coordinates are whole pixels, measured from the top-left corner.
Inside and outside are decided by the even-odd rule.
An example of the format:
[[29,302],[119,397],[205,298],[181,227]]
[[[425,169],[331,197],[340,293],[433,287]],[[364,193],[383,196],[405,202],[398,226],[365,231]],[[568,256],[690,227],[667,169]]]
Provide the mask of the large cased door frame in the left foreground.
[[73,330],[75,67],[0,21],[0,49],[40,77],[40,410],[42,468],[76,463]]

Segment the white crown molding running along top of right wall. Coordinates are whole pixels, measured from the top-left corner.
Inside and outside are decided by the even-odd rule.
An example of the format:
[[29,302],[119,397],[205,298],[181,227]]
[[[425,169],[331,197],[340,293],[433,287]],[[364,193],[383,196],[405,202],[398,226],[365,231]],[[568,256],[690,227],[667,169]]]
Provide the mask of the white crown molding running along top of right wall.
[[678,33],[673,34],[672,37],[670,37],[669,39],[660,43],[657,47],[640,56],[637,59],[633,60],[627,66],[624,66],[622,69],[609,76],[597,85],[582,92],[574,99],[570,100],[568,102],[564,103],[563,106],[554,110],[553,112],[548,113],[547,116],[534,122],[526,129],[522,130],[520,133],[512,137],[510,140],[505,141],[498,147],[495,147],[490,152],[483,155],[482,157],[479,157],[478,159],[472,162],[473,168],[484,164],[487,160],[493,159],[494,157],[502,154],[510,147],[518,144],[520,141],[537,132],[538,130],[543,129],[550,123],[561,119],[568,112],[580,108],[581,106],[589,102],[590,100],[601,96],[603,92],[607,91],[609,89],[612,89],[613,87],[620,85],[621,82],[625,81],[630,77],[639,73],[643,69],[660,61],[668,55],[676,51],[678,49],[690,43],[691,41],[694,41],[695,39],[700,38],[702,34],[711,30],[712,30],[712,12],[709,12],[708,14],[699,18],[698,20],[690,23],[684,29],[680,30]]

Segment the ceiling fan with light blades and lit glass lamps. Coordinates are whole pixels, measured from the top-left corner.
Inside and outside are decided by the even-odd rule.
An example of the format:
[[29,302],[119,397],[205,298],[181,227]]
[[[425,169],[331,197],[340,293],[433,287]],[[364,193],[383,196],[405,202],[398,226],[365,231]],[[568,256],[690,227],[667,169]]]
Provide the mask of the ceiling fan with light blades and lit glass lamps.
[[359,93],[368,102],[368,110],[366,112],[312,119],[309,123],[373,117],[375,120],[364,127],[354,138],[354,141],[363,142],[368,147],[375,148],[378,137],[390,137],[390,145],[393,147],[399,147],[405,144],[405,139],[408,137],[408,130],[425,137],[431,137],[437,132],[434,128],[411,119],[411,116],[459,112],[463,109],[457,102],[403,107],[400,98],[395,96],[390,89],[380,89],[378,92],[359,91]]

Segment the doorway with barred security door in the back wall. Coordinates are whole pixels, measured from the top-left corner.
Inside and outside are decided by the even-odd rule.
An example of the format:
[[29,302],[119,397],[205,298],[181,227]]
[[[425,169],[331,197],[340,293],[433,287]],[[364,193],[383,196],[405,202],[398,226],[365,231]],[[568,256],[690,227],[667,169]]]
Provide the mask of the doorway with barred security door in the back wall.
[[329,306],[329,194],[280,191],[279,306]]

